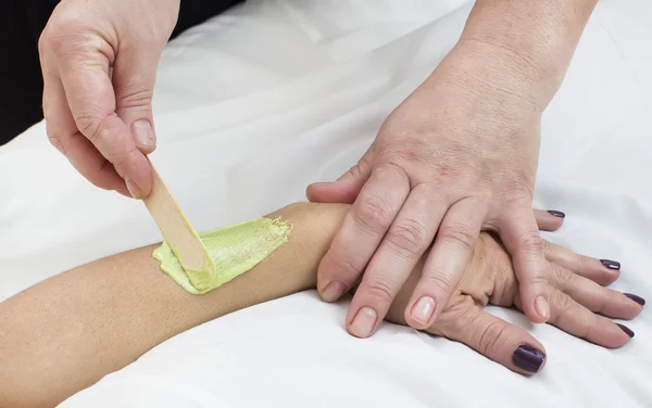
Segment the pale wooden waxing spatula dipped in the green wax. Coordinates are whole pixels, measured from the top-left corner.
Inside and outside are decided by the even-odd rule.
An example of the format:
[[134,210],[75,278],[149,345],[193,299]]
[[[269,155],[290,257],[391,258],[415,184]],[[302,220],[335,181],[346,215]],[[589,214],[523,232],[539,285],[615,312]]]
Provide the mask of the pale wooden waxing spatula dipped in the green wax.
[[[185,270],[195,271],[204,270],[208,267],[214,273],[215,265],[209,252],[176,201],[172,197],[154,166],[152,166],[152,191],[143,202],[181,267]],[[188,276],[188,278],[190,283],[196,286],[196,282],[192,282],[191,277]],[[201,288],[197,289],[201,290]]]

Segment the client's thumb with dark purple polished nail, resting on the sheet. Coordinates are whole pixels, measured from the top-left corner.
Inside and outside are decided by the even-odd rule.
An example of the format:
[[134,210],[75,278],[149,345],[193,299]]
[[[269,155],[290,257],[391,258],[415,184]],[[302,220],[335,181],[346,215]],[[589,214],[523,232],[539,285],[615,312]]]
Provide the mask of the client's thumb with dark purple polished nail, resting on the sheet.
[[443,333],[512,371],[526,375],[539,372],[546,364],[543,345],[527,331],[482,311],[468,299],[468,308],[462,315],[442,314],[434,326],[439,330],[432,334]]

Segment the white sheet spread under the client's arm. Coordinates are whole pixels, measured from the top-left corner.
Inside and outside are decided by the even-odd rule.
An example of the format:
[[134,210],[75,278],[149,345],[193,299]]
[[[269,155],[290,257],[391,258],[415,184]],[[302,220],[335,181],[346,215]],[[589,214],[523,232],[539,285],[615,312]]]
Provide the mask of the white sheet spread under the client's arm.
[[[200,229],[303,200],[360,157],[454,43],[467,1],[250,0],[166,49],[153,161]],[[546,113],[536,204],[552,241],[623,262],[652,298],[652,7],[603,0]],[[42,124],[0,149],[0,301],[66,268],[160,239],[141,204],[90,187]],[[63,295],[63,294],[62,294]],[[346,334],[313,292],[183,333],[64,407],[650,407],[652,318],[607,350],[530,328],[546,370],[514,374],[465,346],[385,324]],[[490,311],[526,328],[522,315]],[[0,328],[1,330],[1,328]]]

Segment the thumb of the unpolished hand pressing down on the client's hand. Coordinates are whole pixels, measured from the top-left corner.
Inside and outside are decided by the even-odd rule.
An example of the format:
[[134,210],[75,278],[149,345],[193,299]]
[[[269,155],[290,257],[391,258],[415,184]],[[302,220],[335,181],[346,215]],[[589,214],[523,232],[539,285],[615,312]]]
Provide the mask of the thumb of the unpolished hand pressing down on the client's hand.
[[351,167],[336,181],[310,184],[305,191],[308,200],[316,203],[352,204],[372,175],[372,155],[373,146],[355,166]]

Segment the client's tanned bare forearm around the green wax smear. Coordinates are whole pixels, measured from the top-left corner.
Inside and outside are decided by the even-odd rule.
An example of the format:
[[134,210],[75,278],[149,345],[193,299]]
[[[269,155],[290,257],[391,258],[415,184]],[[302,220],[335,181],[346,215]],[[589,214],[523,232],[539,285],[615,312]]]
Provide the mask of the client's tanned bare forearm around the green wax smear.
[[0,406],[52,406],[161,342],[316,281],[348,206],[294,204],[271,214],[289,241],[249,272],[197,296],[161,272],[154,246],[48,279],[0,304]]

